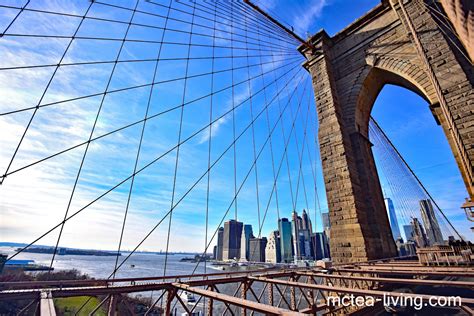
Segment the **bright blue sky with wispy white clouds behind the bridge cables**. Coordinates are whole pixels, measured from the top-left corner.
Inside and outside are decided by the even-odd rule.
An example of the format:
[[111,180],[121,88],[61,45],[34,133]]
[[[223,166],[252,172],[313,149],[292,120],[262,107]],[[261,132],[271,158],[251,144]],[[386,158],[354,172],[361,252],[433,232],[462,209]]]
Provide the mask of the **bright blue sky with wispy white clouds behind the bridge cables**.
[[[167,4],[166,1],[156,2]],[[25,1],[2,3],[21,7]],[[111,3],[126,8],[133,8],[135,5],[131,0],[116,0]],[[333,35],[370,10],[378,1],[265,0],[257,3],[282,22],[291,25],[295,32],[306,36],[321,28]],[[30,8],[82,15],[89,4],[88,1],[35,1]],[[191,10],[189,6],[177,7],[186,12]],[[164,6],[141,1],[138,8],[166,15]],[[0,29],[5,29],[17,12],[16,9],[0,8]],[[212,18],[212,12],[202,14]],[[86,19],[77,32],[78,37],[123,38],[131,11],[94,4],[88,15],[103,20]],[[187,14],[174,12],[173,17],[190,22]],[[105,19],[120,20],[123,23],[110,23]],[[289,44],[289,39],[275,38],[272,37],[275,35],[268,32],[265,34],[268,37],[265,42],[263,36],[260,37],[260,31],[264,32],[263,27],[256,33],[246,34],[256,38],[253,42],[263,46],[241,41],[234,43],[235,49],[225,48],[231,42],[229,32],[240,34],[240,39],[244,38],[243,33],[236,25],[227,25],[225,18],[217,20],[219,28],[214,33],[214,37],[217,37],[212,39],[193,36],[193,44],[197,45],[191,49],[187,45],[189,23],[169,21],[168,28],[186,32],[167,31],[163,35],[159,28],[138,25],[163,27],[163,18],[140,13],[134,16],[133,22],[136,25],[130,27],[127,36],[148,42],[127,41],[122,48],[121,41],[76,39],[68,48],[68,38],[0,38],[0,113],[33,107],[0,116],[2,172],[11,161],[34,113],[34,106],[45,105],[35,112],[13,159],[9,170],[15,172],[5,178],[0,186],[0,241],[31,242],[60,223],[66,211],[68,216],[79,213],[64,225],[60,245],[78,248],[117,249],[127,209],[122,250],[134,249],[145,237],[139,250],[165,250],[170,227],[170,251],[203,251],[205,245],[215,244],[213,233],[223,220],[234,217],[236,208],[237,218],[252,224],[255,235],[258,235],[259,222],[263,223],[261,235],[266,236],[277,228],[278,216],[290,217],[293,208],[300,212],[303,208],[308,209],[316,229],[321,229],[320,213],[327,211],[327,203],[315,143],[317,120],[314,99],[309,76],[299,67],[303,58],[294,52],[295,44]],[[200,18],[194,22],[212,23]],[[80,19],[75,17],[25,11],[15,20],[7,34],[71,36],[79,23]],[[193,31],[209,35],[212,35],[209,32],[213,32],[212,29],[203,27],[195,27]],[[160,47],[157,42],[162,36],[164,41],[180,44],[163,44]],[[265,46],[269,41],[272,43],[271,49]],[[274,43],[278,43],[279,50],[275,50]],[[212,45],[219,48],[214,48],[213,52],[210,48]],[[252,47],[253,50],[244,50],[244,47]],[[117,55],[122,61],[151,61],[121,62],[115,68],[114,63],[70,65],[59,67],[55,72],[54,65],[65,50],[67,53],[63,63],[110,61]],[[245,57],[247,52],[257,57]],[[192,59],[187,63],[185,59],[188,53],[190,57],[196,58],[211,54],[244,57],[234,58],[233,64],[230,58],[215,59],[214,63],[211,59]],[[158,71],[155,72],[157,63],[153,59],[157,58],[157,54],[160,54],[160,59],[168,60],[160,61]],[[177,58],[181,60],[170,60]],[[42,64],[53,66],[3,69]],[[233,76],[225,71],[239,67],[240,69],[233,71]],[[221,72],[195,76],[211,69]],[[182,78],[186,71],[188,76],[195,77],[170,80]],[[110,77],[112,72],[113,76]],[[259,77],[262,72],[264,75]],[[255,79],[247,80],[249,77]],[[51,82],[50,78],[53,78]],[[151,89],[147,84],[153,78],[155,82],[161,83]],[[233,82],[243,84],[235,89],[225,89],[232,86]],[[275,83],[270,84],[271,82]],[[106,87],[110,91],[139,85],[144,87],[48,105],[99,93],[105,91]],[[283,89],[284,86],[287,87]],[[46,93],[43,95],[45,89]],[[212,98],[203,97],[210,91],[219,89],[223,91]],[[250,96],[252,98],[249,100]],[[278,97],[272,99],[274,96]],[[234,112],[231,111],[232,99],[234,106],[242,104]],[[270,102],[271,99],[274,101]],[[400,103],[399,100],[402,99],[404,101]],[[183,102],[186,105],[181,107]],[[268,106],[268,111],[265,106]],[[99,108],[98,120],[92,131]],[[173,110],[169,110],[170,108]],[[140,120],[147,113],[155,117],[148,120],[143,128]],[[250,124],[252,117],[255,118],[259,113],[261,115],[255,123]],[[472,238],[469,236],[468,223],[459,209],[467,193],[442,130],[436,126],[427,104],[407,90],[387,86],[376,101],[373,116],[440,206],[453,219],[453,223],[460,227],[466,237]],[[212,130],[203,128],[209,123],[210,117],[214,122]],[[107,135],[131,123],[135,124]],[[235,163],[231,145],[234,126],[236,135],[242,135],[235,145]],[[201,132],[196,133],[197,131]],[[268,141],[269,131],[272,131],[271,142]],[[180,146],[177,160],[177,150],[170,148],[177,144],[179,138],[185,140],[190,136],[193,137]],[[100,138],[87,147],[89,137]],[[216,163],[209,173],[208,190],[206,170],[209,143],[210,161]],[[77,144],[82,145],[21,169]],[[137,159],[138,148],[140,154]],[[254,168],[253,160],[259,153]],[[157,160],[157,157],[161,158]],[[179,168],[175,176],[176,161]],[[241,188],[236,201],[233,200],[234,165],[237,167],[237,188]],[[276,194],[272,194],[275,187],[272,166],[277,170],[279,165],[281,170]],[[134,170],[142,169],[133,178],[132,186],[131,175]],[[196,183],[199,179],[201,181]],[[317,192],[314,191],[315,182]],[[117,188],[102,197],[104,192],[114,186]],[[189,188],[192,190],[187,193]],[[100,198],[97,199],[98,197]],[[164,216],[169,213],[172,201],[177,206],[173,208],[171,225],[168,226],[169,216]],[[268,213],[264,216],[267,208]],[[157,224],[158,228],[153,230]],[[153,233],[148,236],[147,233],[152,230]],[[51,231],[38,240],[37,244],[55,244],[58,233],[59,229]]]

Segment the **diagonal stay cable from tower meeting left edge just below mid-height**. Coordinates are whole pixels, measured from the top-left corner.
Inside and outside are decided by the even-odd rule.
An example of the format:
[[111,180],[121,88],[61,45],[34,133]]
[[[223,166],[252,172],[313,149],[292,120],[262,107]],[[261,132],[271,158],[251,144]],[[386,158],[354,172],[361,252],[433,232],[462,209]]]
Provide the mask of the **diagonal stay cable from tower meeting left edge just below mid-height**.
[[[279,67],[279,68],[284,68],[284,67],[287,67],[287,66],[290,66],[290,65],[294,65],[294,64],[296,64],[296,63],[297,63],[297,62],[289,63],[289,64],[284,65],[283,67]],[[255,78],[257,78],[257,76],[253,77],[251,80],[253,80],[253,79],[255,79]],[[243,83],[247,82],[247,80],[248,80],[248,79],[243,80],[243,81],[241,81],[241,82],[238,82],[236,85],[243,84]],[[276,80],[270,82],[269,84],[272,85],[272,84],[274,84],[274,83],[276,83]],[[151,85],[148,85],[148,84],[147,84],[146,86],[151,86]],[[231,89],[231,88],[233,88],[233,87],[234,87],[234,85],[231,85],[231,86],[224,87],[224,88],[222,88],[222,89],[213,91],[212,93],[209,93],[209,94],[206,94],[206,95],[204,95],[204,96],[200,96],[200,97],[198,97],[198,98],[196,98],[196,99],[190,100],[190,101],[186,102],[184,105],[187,106],[187,105],[193,104],[193,103],[195,103],[195,102],[197,102],[197,101],[203,100],[203,99],[205,99],[205,98],[208,98],[208,97],[210,97],[210,96],[213,96],[213,95],[215,95],[215,94],[217,94],[217,93],[220,93],[220,92],[223,92],[223,91],[225,91],[225,90]],[[259,92],[261,92],[261,91],[259,91]],[[98,94],[98,95],[102,95],[102,94],[103,94],[103,93],[100,93],[100,94]],[[110,94],[110,93],[108,92],[107,94]],[[240,106],[240,105],[239,105],[239,106]],[[163,111],[161,111],[161,112],[158,112],[158,113],[156,113],[156,114],[150,115],[150,116],[147,118],[147,120],[155,119],[155,118],[157,118],[157,117],[159,117],[159,116],[161,116],[161,115],[164,115],[164,114],[167,114],[167,113],[169,113],[169,112],[171,112],[171,111],[177,110],[177,109],[179,109],[180,107],[181,107],[181,104],[178,104],[178,105],[176,105],[176,106],[174,106],[174,107],[171,107],[171,108],[168,108],[168,109],[163,110]],[[117,129],[115,129],[115,130],[112,130],[112,131],[110,131],[110,132],[108,132],[108,133],[102,134],[102,135],[100,135],[100,136],[96,136],[96,137],[92,138],[92,139],[90,140],[90,142],[93,142],[93,141],[99,140],[99,139],[101,139],[101,138],[107,137],[107,136],[112,135],[112,134],[114,134],[114,133],[116,133],[116,132],[119,132],[119,131],[128,129],[128,128],[133,127],[133,126],[135,126],[135,125],[137,125],[137,124],[139,124],[139,123],[142,123],[142,122],[143,122],[143,119],[142,119],[142,120],[135,121],[135,122],[130,123],[130,124],[127,124],[127,125],[125,125],[125,126],[122,126],[122,127],[120,127],[120,128],[117,128]],[[16,172],[25,170],[25,169],[27,169],[27,168],[29,168],[29,167],[32,167],[32,166],[34,166],[34,165],[36,165],[36,164],[38,164],[38,163],[44,162],[44,161],[46,161],[46,160],[48,160],[48,159],[51,159],[51,158],[54,158],[54,157],[59,156],[59,155],[61,155],[61,154],[64,154],[64,153],[66,153],[66,152],[68,152],[68,151],[70,151],[70,150],[73,150],[73,149],[75,149],[75,148],[78,148],[78,147],[81,147],[81,146],[83,146],[83,145],[86,145],[88,142],[89,142],[89,141],[84,141],[84,142],[82,142],[82,143],[76,144],[76,145],[71,146],[71,147],[69,147],[69,148],[67,148],[67,149],[64,149],[64,150],[62,150],[62,151],[59,151],[59,152],[57,152],[57,153],[55,153],[55,154],[52,154],[52,155],[50,155],[50,156],[47,156],[47,157],[42,158],[42,159],[40,159],[40,160],[37,160],[37,161],[35,161],[35,162],[33,162],[33,163],[30,163],[30,164],[27,164],[27,165],[25,165],[25,166],[19,167],[18,169],[15,169],[15,170],[13,170],[13,171],[10,171],[8,174],[3,175],[3,176],[0,176],[0,177],[1,177],[1,178],[4,178],[4,177],[9,176],[9,175],[11,175],[11,174],[14,174],[14,173],[16,173]]]

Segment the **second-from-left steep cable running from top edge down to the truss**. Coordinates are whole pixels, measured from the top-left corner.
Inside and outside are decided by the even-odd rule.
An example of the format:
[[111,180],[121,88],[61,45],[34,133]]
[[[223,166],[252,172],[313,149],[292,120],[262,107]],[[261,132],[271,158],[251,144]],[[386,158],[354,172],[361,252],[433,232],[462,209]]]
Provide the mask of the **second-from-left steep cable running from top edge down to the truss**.
[[[171,8],[171,5],[172,5],[172,0],[170,0],[170,3],[169,3],[169,6],[168,6],[168,14],[167,16],[169,16],[169,12],[170,12],[170,8]],[[136,8],[136,7],[135,7]],[[165,34],[166,34],[166,27],[168,25],[168,19],[165,20],[165,24],[164,24],[164,27],[163,27],[163,32],[161,33],[161,41],[163,41],[164,37],[165,37]],[[156,79],[156,76],[157,76],[157,73],[158,73],[158,65],[160,63],[160,57],[161,57],[161,52],[163,50],[163,45],[160,45],[159,49],[158,49],[158,53],[157,53],[157,57],[156,57],[156,63],[155,63],[155,69],[153,71],[153,79],[152,79],[152,82],[155,81]],[[188,55],[188,58],[189,58],[189,55]],[[189,62],[189,59],[188,59],[188,62]],[[186,73],[187,75],[187,73]],[[185,77],[186,77],[185,75]],[[145,114],[144,114],[144,118],[143,118],[143,124],[142,124],[142,129],[141,129],[141,133],[140,133],[140,141],[139,141],[139,144],[138,144],[138,148],[137,148],[137,154],[136,154],[136,157],[135,157],[135,164],[133,166],[133,174],[135,174],[135,172],[137,171],[137,167],[138,167],[138,160],[140,159],[140,152],[141,152],[141,149],[142,149],[142,143],[143,143],[143,135],[145,133],[145,128],[146,128],[146,122],[148,120],[148,112],[150,110],[150,105],[151,105],[151,99],[152,99],[152,96],[153,96],[153,90],[155,88],[155,85],[152,85],[150,87],[150,92],[148,94],[148,100],[147,100],[147,105],[146,105],[146,111],[145,111]],[[115,256],[115,265],[114,265],[114,271],[115,269],[117,268],[117,264],[118,264],[118,259],[119,259],[119,256],[120,256],[120,250],[122,248],[122,240],[123,240],[123,233],[124,233],[124,230],[125,230],[125,225],[126,225],[126,222],[127,222],[127,215],[128,215],[128,209],[130,207],[130,199],[132,197],[132,191],[133,191],[133,185],[135,183],[135,175],[132,176],[132,180],[130,182],[130,189],[128,191],[128,197],[127,197],[127,205],[125,207],[125,213],[124,213],[124,216],[123,216],[123,223],[122,223],[122,230],[120,232],[120,239],[119,239],[119,244],[118,244],[118,249],[117,249],[117,255]],[[115,278],[115,273],[113,275],[113,278]]]

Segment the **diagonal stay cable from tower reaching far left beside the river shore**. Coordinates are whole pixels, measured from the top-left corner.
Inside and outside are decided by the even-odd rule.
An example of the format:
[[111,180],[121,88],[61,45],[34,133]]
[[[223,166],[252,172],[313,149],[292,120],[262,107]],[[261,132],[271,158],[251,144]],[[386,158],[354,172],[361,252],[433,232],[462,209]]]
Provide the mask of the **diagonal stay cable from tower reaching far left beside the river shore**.
[[[298,69],[298,71],[293,75],[293,77],[288,81],[291,82],[292,79],[294,79],[296,77],[296,75],[301,71],[300,69],[300,65],[296,65],[293,69]],[[283,77],[284,75],[287,75],[287,73],[284,73],[281,77]],[[288,85],[288,83],[286,85]],[[285,85],[285,87],[286,87]],[[281,93],[281,91],[279,92]],[[248,100],[244,100],[242,101],[238,106],[242,106],[242,104],[244,104],[246,101]],[[224,114],[220,115],[219,117],[217,117],[216,119],[214,119],[212,121],[212,124],[215,124],[217,121],[221,120],[223,117],[225,117],[226,115],[230,114],[232,112],[232,109],[226,111]],[[261,115],[261,113],[259,113],[259,115],[256,116],[255,119],[258,119],[258,117]],[[181,142],[181,145],[188,142],[190,139],[193,139],[196,135],[200,134],[201,132],[205,131],[209,126],[206,125],[204,127],[202,127],[201,129],[197,130],[196,132],[194,132],[193,134],[191,134],[189,137],[187,137],[186,139],[184,139],[182,142]],[[246,127],[246,129],[239,135],[239,137],[241,137],[243,135],[243,133],[248,129],[250,128],[250,125],[248,125]],[[238,140],[238,138],[236,138],[236,141]],[[234,142],[232,142],[232,144],[230,145],[230,147],[232,147]],[[137,175],[137,174],[140,174],[142,173],[144,170],[148,169],[150,166],[154,165],[157,161],[159,161],[160,159],[162,159],[164,156],[166,156],[167,154],[169,154],[170,152],[174,151],[176,149],[177,146],[174,146],[170,149],[168,149],[166,152],[162,153],[161,155],[159,155],[158,157],[156,157],[155,159],[153,159],[152,161],[150,161],[149,163],[147,163],[146,165],[144,165],[142,168],[138,169],[134,174]],[[229,148],[230,148],[229,147]],[[227,150],[229,149],[227,148]],[[222,158],[222,157],[221,157]],[[215,162],[213,165],[215,165],[217,162]],[[132,174],[133,175],[133,174]],[[33,244],[35,244],[36,242],[38,242],[39,240],[41,240],[42,238],[44,238],[45,236],[49,235],[52,231],[54,231],[55,229],[57,229],[58,227],[60,227],[62,225],[62,223],[64,222],[67,222],[69,221],[70,219],[72,219],[73,217],[77,216],[78,214],[80,214],[83,210],[87,209],[89,206],[93,205],[95,202],[99,201],[100,199],[102,199],[104,196],[107,196],[110,192],[114,191],[115,189],[117,189],[118,187],[120,187],[123,183],[127,182],[128,180],[131,179],[132,175],[124,178],[122,181],[118,182],[116,185],[114,185],[113,187],[111,187],[110,189],[108,189],[107,191],[103,192],[102,194],[100,194],[98,197],[96,197],[94,200],[92,200],[91,202],[89,202],[88,204],[86,204],[85,206],[83,206],[82,208],[80,208],[78,211],[76,211],[75,213],[69,215],[65,220],[61,221],[60,223],[58,223],[57,225],[53,226],[52,228],[50,228],[48,231],[46,231],[45,233],[43,233],[41,236],[37,237],[34,241],[30,242],[28,245],[20,248],[20,249],[17,249],[17,251],[12,254],[9,258],[7,258],[7,261],[15,258],[18,254],[20,254],[21,252],[23,252],[25,249],[31,247]],[[205,176],[205,175],[204,175]],[[188,192],[189,193],[189,192]],[[184,199],[185,196],[183,196],[178,202],[182,201],[182,199]]]

